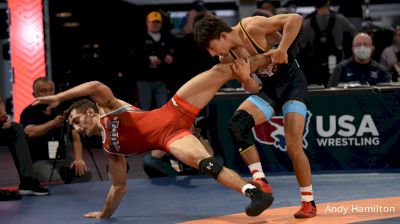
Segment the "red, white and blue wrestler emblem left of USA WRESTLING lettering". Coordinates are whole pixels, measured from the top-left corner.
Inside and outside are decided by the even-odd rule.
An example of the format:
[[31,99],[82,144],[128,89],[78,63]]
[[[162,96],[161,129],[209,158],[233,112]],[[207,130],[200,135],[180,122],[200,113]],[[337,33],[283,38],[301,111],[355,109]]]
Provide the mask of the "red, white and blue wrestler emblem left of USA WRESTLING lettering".
[[[306,125],[303,132],[303,148],[307,148],[308,126],[310,124],[311,112],[307,111]],[[254,138],[262,144],[273,145],[281,151],[286,151],[284,120],[283,116],[274,116],[271,120],[259,124],[253,128]]]

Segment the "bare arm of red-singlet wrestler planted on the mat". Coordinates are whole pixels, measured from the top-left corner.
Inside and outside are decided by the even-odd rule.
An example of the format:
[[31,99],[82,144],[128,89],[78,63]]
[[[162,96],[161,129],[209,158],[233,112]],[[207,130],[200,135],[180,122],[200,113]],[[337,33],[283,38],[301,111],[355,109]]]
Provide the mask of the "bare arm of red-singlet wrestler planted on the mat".
[[102,211],[95,211],[85,214],[86,218],[108,218],[114,214],[125,192],[126,185],[126,160],[122,155],[108,155],[108,175],[111,181],[111,188],[108,192],[106,202]]

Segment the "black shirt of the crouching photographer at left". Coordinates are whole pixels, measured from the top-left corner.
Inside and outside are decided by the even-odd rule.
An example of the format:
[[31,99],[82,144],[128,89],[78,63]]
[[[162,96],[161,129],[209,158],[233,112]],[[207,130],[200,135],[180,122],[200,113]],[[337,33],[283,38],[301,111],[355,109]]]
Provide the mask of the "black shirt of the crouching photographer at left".
[[[57,114],[54,110],[49,115],[45,114],[45,107],[43,105],[26,107],[21,114],[21,124],[26,127],[28,125],[42,125],[48,121],[53,120]],[[48,160],[48,141],[59,141],[61,144],[62,128],[53,128],[47,132],[44,136],[36,138],[27,138],[29,150],[31,152],[32,162],[38,160]],[[65,157],[65,153],[61,153],[61,158]]]

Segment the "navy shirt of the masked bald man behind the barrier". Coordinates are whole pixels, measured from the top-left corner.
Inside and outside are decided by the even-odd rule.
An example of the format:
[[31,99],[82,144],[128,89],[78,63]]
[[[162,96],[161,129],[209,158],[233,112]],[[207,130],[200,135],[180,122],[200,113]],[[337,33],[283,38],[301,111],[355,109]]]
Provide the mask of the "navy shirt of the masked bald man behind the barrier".
[[339,83],[376,85],[389,81],[387,70],[378,62],[371,60],[368,64],[359,64],[353,58],[349,58],[337,65],[329,78],[328,87],[336,87]]

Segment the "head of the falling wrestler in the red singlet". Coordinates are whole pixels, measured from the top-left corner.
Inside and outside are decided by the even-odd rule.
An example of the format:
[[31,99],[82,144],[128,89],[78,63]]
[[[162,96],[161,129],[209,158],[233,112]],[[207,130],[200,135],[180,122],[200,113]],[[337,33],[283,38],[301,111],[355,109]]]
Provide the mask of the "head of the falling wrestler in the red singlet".
[[99,109],[90,100],[83,99],[73,103],[67,110],[68,122],[84,135],[101,135]]

